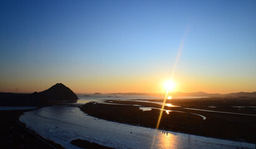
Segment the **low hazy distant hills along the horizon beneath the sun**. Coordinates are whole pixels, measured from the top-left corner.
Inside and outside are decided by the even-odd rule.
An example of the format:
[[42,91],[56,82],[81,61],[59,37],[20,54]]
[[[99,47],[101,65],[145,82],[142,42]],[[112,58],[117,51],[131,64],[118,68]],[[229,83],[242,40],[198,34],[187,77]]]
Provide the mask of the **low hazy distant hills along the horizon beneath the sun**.
[[[108,94],[123,94],[123,95],[141,95],[141,96],[164,96],[165,93],[108,93]],[[209,94],[204,92],[194,92],[194,93],[182,93],[182,92],[173,92],[170,93],[172,96],[205,96],[205,97],[256,97],[256,92],[246,93],[230,93],[230,94]]]

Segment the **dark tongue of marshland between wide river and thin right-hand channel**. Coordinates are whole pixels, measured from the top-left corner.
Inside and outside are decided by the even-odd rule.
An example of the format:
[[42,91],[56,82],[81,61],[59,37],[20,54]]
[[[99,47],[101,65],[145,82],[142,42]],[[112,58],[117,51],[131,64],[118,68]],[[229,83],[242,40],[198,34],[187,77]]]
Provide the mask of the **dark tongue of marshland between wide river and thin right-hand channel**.
[[[83,105],[80,109],[83,112],[100,119],[156,128],[160,113],[159,109],[142,111],[138,106],[118,104],[139,104],[145,107],[156,108],[161,108],[161,105],[135,101],[112,100],[107,102],[110,102],[111,104],[94,104],[91,102]],[[205,102],[209,101],[206,100]],[[201,99],[200,103],[201,105],[204,105],[204,100]],[[222,105],[221,108],[224,109],[224,106]],[[205,137],[235,140],[239,142],[255,143],[256,117],[254,116],[195,111],[192,109],[184,109],[183,107],[165,106],[164,109],[173,112],[169,112],[169,114],[163,112],[159,129]],[[196,114],[204,115],[206,119],[204,120]]]

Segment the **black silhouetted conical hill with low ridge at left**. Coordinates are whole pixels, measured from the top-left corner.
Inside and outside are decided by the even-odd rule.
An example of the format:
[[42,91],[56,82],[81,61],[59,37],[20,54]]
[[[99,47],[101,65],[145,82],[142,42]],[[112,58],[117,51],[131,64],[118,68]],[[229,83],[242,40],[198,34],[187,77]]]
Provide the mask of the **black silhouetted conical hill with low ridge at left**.
[[60,102],[77,102],[77,95],[62,83],[32,94],[0,93],[0,106],[43,106]]

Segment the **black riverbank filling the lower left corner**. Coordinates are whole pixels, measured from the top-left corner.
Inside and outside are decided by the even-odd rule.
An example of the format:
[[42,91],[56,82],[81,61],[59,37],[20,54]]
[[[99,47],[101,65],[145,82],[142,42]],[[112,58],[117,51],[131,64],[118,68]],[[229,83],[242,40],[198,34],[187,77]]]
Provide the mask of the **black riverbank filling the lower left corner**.
[[29,132],[19,123],[19,116],[30,110],[0,111],[0,148],[62,148]]

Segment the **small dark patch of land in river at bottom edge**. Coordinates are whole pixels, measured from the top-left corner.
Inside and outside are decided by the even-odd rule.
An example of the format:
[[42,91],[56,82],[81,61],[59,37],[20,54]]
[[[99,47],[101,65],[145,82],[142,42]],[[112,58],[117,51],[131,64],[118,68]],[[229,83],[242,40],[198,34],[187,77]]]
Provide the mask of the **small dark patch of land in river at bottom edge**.
[[71,141],[72,145],[75,145],[77,147],[80,148],[87,148],[87,149],[114,149],[111,147],[105,147],[103,145],[99,145],[97,143],[92,143],[92,142],[88,142],[87,140],[81,140],[81,139],[76,139],[76,140],[72,140]]

